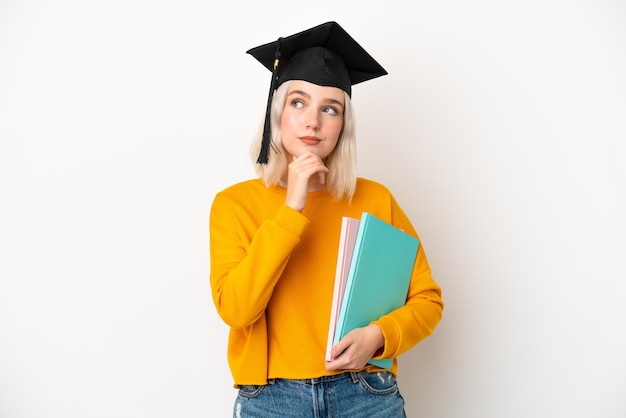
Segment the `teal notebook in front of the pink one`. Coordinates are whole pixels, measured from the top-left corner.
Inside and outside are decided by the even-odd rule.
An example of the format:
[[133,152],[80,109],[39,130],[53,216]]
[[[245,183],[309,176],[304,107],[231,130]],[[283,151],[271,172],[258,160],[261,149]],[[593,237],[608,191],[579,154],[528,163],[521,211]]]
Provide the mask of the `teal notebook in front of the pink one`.
[[[417,238],[363,212],[333,345],[351,330],[404,306],[418,246]],[[369,363],[390,369],[393,360]]]

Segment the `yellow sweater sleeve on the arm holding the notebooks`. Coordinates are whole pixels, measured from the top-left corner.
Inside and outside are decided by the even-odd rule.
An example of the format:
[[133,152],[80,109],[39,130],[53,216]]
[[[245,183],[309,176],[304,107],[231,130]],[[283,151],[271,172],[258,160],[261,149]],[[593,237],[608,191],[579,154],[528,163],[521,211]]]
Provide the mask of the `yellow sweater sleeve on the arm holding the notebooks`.
[[[404,211],[391,198],[392,224],[417,237]],[[443,313],[441,288],[433,280],[421,240],[413,267],[406,304],[382,316],[376,323],[385,345],[376,358],[395,358],[433,333]]]

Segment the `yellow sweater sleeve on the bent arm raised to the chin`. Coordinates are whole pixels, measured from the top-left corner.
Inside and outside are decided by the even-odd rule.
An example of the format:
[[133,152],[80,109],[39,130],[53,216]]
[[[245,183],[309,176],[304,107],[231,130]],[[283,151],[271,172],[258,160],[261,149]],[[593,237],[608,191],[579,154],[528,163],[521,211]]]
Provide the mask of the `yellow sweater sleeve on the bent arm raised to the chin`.
[[291,251],[309,224],[285,205],[258,227],[246,211],[218,194],[209,220],[213,302],[233,328],[247,327],[263,315]]

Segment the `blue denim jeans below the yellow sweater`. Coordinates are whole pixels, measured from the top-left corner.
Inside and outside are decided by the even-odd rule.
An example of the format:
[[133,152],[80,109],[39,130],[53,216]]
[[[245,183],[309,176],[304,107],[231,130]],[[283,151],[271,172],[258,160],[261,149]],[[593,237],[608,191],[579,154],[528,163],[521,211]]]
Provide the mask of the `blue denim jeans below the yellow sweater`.
[[235,418],[404,418],[404,399],[388,372],[346,372],[315,379],[242,385]]

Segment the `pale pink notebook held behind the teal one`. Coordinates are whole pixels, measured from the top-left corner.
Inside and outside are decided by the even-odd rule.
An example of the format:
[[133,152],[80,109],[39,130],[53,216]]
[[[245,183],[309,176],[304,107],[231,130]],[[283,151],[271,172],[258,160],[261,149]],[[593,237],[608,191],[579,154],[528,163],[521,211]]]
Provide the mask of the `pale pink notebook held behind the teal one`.
[[341,302],[346,289],[346,279],[350,271],[350,263],[352,261],[352,253],[354,243],[356,241],[357,232],[359,231],[359,219],[344,216],[341,221],[341,234],[339,235],[339,251],[337,253],[337,271],[335,272],[335,288],[333,291],[333,304],[330,311],[330,325],[328,326],[328,341],[326,343],[326,361],[331,361],[330,352],[333,348],[333,340],[335,339],[335,329],[339,312],[341,311]]

